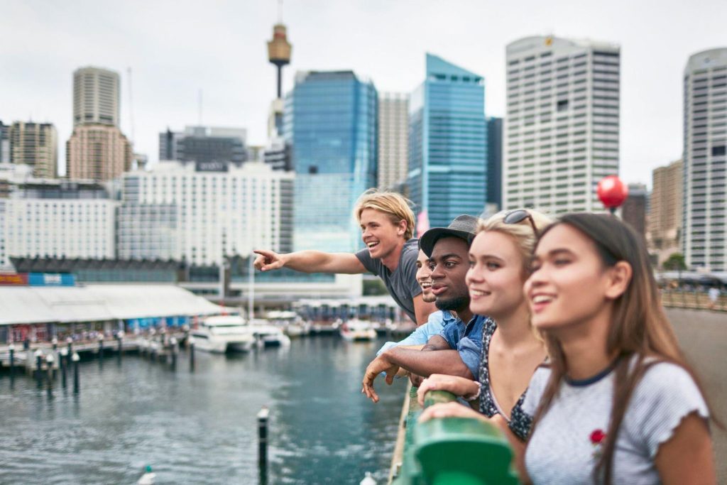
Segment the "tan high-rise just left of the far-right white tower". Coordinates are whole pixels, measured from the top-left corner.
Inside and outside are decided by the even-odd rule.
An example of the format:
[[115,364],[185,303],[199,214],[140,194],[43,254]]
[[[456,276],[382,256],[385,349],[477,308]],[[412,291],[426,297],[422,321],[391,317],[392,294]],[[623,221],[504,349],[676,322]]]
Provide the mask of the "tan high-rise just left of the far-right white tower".
[[651,174],[646,241],[659,264],[681,252],[683,185],[681,160],[656,168]]

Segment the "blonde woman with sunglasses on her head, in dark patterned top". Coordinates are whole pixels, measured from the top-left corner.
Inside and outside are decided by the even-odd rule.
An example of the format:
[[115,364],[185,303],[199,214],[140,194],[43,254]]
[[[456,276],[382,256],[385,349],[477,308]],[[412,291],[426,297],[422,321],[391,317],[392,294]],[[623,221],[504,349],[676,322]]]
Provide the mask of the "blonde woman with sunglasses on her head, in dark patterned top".
[[470,401],[431,406],[421,420],[464,416],[494,420],[512,432],[515,444],[527,438],[531,416],[521,405],[533,372],[546,357],[545,344],[530,324],[523,284],[537,236],[550,224],[539,212],[502,212],[481,223],[470,246],[466,282],[470,310],[491,319],[485,324],[478,380],[433,374],[419,387],[419,401],[430,390],[448,390]]

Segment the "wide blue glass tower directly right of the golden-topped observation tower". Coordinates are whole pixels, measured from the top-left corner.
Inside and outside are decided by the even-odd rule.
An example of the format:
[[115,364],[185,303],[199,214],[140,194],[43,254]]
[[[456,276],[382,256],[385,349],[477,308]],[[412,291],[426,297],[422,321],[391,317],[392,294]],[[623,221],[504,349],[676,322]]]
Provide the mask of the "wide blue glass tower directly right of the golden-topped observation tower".
[[295,169],[293,247],[361,247],[353,204],[377,184],[377,91],[353,71],[298,73],[284,138]]

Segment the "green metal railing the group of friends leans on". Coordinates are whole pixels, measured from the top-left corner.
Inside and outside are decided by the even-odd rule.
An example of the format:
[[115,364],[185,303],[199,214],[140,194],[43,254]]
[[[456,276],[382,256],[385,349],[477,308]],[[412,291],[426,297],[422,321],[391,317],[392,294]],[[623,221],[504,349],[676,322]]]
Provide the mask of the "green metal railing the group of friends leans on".
[[[455,399],[454,394],[431,391],[425,398],[425,407]],[[417,422],[421,412],[417,388],[411,388],[403,460],[393,485],[519,483],[513,467],[513,451],[495,425],[461,417]]]

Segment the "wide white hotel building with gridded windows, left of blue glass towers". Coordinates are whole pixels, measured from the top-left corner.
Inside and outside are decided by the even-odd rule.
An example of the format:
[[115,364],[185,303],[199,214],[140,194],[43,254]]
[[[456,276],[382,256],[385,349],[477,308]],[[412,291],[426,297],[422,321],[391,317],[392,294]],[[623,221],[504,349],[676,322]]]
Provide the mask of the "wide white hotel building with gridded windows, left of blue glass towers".
[[293,177],[262,163],[161,161],[123,176],[119,258],[215,265],[292,246]]

